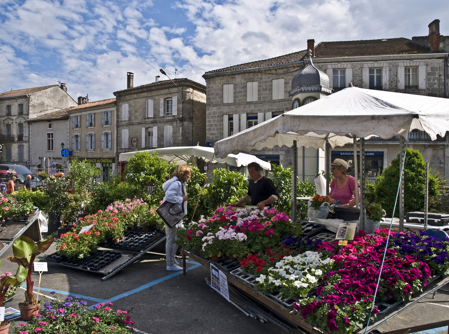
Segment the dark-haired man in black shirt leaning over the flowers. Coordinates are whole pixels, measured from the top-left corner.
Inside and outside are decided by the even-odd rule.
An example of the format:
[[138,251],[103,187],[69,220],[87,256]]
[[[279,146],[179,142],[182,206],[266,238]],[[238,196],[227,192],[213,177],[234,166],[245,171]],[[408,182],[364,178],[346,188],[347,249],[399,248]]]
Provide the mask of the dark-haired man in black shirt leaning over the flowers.
[[241,200],[232,204],[232,206],[239,207],[242,203],[251,200],[251,205],[257,205],[259,210],[263,210],[264,206],[272,204],[278,199],[273,181],[260,174],[260,165],[258,163],[251,162],[248,165],[248,174],[251,178],[248,193]]

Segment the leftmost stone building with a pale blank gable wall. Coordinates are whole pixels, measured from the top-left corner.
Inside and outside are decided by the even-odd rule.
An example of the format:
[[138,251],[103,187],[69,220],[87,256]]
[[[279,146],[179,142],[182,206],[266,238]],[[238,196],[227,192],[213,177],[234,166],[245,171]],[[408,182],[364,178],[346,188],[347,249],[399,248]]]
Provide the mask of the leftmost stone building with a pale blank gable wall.
[[26,120],[77,105],[64,83],[0,93],[0,163],[31,161],[31,128]]

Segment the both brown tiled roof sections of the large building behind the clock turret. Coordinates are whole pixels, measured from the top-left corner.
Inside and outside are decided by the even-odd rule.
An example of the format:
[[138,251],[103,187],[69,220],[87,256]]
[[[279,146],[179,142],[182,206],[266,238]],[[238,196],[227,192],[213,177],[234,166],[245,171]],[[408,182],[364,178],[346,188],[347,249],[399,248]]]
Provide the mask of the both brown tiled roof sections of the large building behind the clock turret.
[[[433,51],[443,52],[443,51]],[[321,42],[315,46],[314,58],[333,58],[351,56],[383,56],[415,53],[432,53],[430,48],[413,43],[407,38],[370,39],[357,41]],[[302,50],[288,55],[269,58],[261,61],[253,61],[240,65],[214,69],[205,74],[214,72],[231,71],[236,69],[251,69],[269,65],[280,65],[301,61],[307,57],[307,50]]]

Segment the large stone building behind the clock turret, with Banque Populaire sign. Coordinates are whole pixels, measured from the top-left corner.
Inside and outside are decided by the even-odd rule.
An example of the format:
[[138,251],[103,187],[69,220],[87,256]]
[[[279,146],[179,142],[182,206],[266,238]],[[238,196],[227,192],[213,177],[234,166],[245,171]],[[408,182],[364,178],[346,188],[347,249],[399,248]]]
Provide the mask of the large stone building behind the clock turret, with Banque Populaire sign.
[[[429,35],[412,39],[393,38],[360,41],[321,42],[308,40],[313,64],[330,78],[334,93],[348,87],[395,91],[448,98],[449,36],[439,32],[439,20],[429,24]],[[307,50],[262,61],[230,66],[206,72],[207,141],[212,143],[245,130],[284,111],[300,107],[317,96],[292,99],[288,92],[295,74],[308,63]],[[365,151],[372,158],[368,177],[374,177],[396,158],[398,139],[367,140]],[[411,145],[411,146],[410,146]],[[449,147],[446,138],[431,141],[427,134],[414,130],[409,147],[423,152],[425,159],[437,170],[449,175]],[[346,156],[352,147],[336,147],[332,160]],[[290,166],[293,163],[289,147],[251,151],[264,160]],[[311,177],[324,169],[324,152],[299,148],[299,177]],[[311,163],[305,164],[305,160]],[[377,160],[376,160],[377,159]],[[315,161],[315,162],[313,162]],[[374,162],[375,161],[375,162]]]

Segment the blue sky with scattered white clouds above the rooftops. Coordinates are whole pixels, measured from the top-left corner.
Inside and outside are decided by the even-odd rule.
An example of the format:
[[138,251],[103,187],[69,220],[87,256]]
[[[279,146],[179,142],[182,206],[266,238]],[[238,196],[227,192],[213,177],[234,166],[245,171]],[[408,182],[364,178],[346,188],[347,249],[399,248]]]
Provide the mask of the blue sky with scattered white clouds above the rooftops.
[[[447,0],[0,0],[0,91],[64,82],[76,100],[303,50],[321,41],[427,35]],[[161,78],[164,79],[164,78]]]

